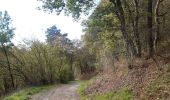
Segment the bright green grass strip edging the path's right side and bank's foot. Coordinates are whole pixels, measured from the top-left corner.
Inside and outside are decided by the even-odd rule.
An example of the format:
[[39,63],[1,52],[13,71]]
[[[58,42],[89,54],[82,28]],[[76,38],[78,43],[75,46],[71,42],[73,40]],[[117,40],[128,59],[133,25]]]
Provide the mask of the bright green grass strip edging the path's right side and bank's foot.
[[84,90],[89,85],[89,81],[83,82],[79,89],[78,93],[81,97],[81,100],[132,100],[133,92],[127,87],[123,87],[116,92],[107,92],[101,95],[91,94],[89,96],[84,96]]

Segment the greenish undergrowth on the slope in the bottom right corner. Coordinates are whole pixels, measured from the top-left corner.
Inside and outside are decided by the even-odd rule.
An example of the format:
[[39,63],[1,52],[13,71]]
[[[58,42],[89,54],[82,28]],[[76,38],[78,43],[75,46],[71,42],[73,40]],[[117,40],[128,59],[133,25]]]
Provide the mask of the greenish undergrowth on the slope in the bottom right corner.
[[147,88],[144,99],[169,100],[170,98],[170,64],[164,65],[166,69]]

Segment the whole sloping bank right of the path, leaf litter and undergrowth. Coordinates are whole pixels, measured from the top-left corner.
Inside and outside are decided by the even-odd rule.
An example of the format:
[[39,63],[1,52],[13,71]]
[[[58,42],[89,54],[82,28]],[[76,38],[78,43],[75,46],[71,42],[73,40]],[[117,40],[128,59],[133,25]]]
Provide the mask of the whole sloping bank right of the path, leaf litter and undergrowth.
[[[133,68],[128,69],[124,62],[116,62],[114,72],[101,72],[92,79],[84,89],[83,95],[92,100],[106,96],[101,100],[116,100],[114,95],[126,95],[132,91],[127,100],[168,100],[170,98],[170,57],[156,56],[153,59],[136,59]],[[128,94],[127,94],[128,96]],[[121,97],[121,96],[120,96]],[[117,98],[122,100],[121,98]]]

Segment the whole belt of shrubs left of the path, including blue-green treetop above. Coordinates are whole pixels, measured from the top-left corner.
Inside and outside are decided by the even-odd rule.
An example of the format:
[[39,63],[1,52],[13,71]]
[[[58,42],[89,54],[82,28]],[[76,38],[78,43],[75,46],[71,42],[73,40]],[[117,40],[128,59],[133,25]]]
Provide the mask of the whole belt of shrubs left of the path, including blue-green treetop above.
[[10,65],[8,69],[5,68],[5,56],[0,56],[0,96],[14,89],[11,88],[12,79],[16,88],[20,88],[67,83],[74,80],[79,72],[94,71],[95,59],[86,49],[69,40],[67,34],[61,34],[56,26],[48,28],[46,33],[47,43],[26,41],[25,45],[11,48],[6,56]]

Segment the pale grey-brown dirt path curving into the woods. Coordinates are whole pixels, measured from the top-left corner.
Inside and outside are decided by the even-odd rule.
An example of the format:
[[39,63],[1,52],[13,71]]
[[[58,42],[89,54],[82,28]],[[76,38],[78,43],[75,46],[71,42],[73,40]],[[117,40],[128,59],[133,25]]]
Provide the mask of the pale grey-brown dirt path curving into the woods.
[[80,100],[76,92],[78,87],[78,83],[61,85],[61,87],[33,95],[31,100]]

